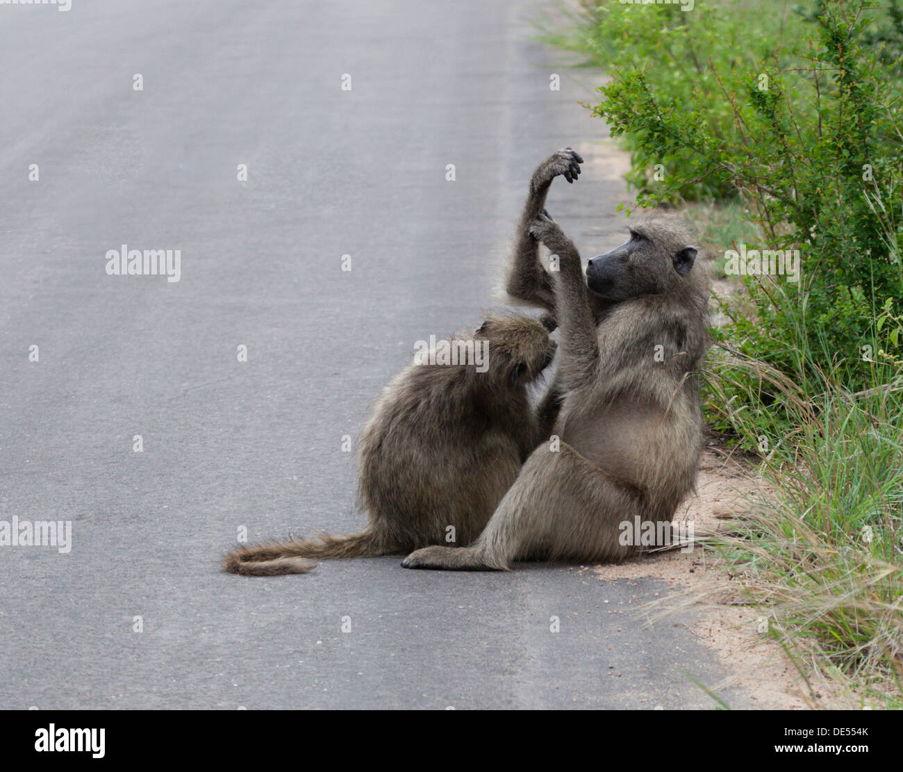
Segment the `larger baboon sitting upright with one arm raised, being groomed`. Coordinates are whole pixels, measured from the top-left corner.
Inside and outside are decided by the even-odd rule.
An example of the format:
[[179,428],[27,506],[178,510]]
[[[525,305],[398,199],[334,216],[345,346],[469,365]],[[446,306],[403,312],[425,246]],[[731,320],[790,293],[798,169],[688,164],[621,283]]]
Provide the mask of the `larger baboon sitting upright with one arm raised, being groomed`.
[[[547,175],[550,162],[537,174]],[[640,549],[621,544],[619,524],[636,516],[656,528],[670,524],[694,487],[702,450],[696,367],[708,343],[707,283],[692,270],[696,249],[675,223],[648,221],[630,229],[626,244],[594,257],[584,282],[580,255],[536,190],[531,184],[527,206],[539,203],[540,211],[524,223],[527,236],[558,256],[560,270],[553,282],[536,270],[535,252],[531,264],[518,251],[525,277],[516,268],[508,286],[557,315],[558,369],[545,405],[554,438],[526,460],[474,544],[426,547],[408,555],[407,568],[619,560]],[[529,246],[524,234],[520,246]]]

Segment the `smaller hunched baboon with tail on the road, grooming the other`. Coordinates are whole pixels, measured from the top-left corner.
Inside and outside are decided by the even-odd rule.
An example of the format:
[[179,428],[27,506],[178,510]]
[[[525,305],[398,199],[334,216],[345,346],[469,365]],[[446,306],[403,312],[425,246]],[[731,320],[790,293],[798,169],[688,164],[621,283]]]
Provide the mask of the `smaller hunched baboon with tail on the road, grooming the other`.
[[358,442],[361,533],[239,547],[226,571],[303,573],[317,558],[407,553],[450,536],[470,544],[540,440],[526,386],[554,357],[549,319],[490,317],[437,344],[456,348],[459,364],[415,358],[386,386]]

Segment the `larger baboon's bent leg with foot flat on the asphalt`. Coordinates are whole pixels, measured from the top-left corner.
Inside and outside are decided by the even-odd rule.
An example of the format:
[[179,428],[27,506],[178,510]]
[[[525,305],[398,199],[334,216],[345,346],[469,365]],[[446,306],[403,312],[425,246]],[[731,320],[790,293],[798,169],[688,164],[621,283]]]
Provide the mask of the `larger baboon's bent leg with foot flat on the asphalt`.
[[405,568],[506,571],[516,560],[618,560],[635,551],[619,544],[619,524],[642,515],[641,491],[620,482],[561,444],[545,443],[526,460],[486,529],[469,547],[426,547]]

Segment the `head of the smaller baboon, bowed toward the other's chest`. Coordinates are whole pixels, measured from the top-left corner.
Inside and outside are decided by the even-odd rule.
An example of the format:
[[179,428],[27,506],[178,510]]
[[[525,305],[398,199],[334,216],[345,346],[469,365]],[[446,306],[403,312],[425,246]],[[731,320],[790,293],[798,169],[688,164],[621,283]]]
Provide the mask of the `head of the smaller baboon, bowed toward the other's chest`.
[[548,367],[557,345],[549,338],[554,321],[529,316],[489,317],[474,333],[489,341],[489,370],[512,385],[529,383]]

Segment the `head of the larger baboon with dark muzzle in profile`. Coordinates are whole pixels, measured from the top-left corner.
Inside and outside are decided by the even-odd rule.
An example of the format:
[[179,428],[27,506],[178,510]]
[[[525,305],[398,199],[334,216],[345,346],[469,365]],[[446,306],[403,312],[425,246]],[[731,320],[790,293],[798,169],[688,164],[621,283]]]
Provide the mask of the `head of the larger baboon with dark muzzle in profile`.
[[654,226],[630,228],[630,239],[586,268],[586,284],[611,303],[666,293],[693,268],[696,249],[680,233]]

